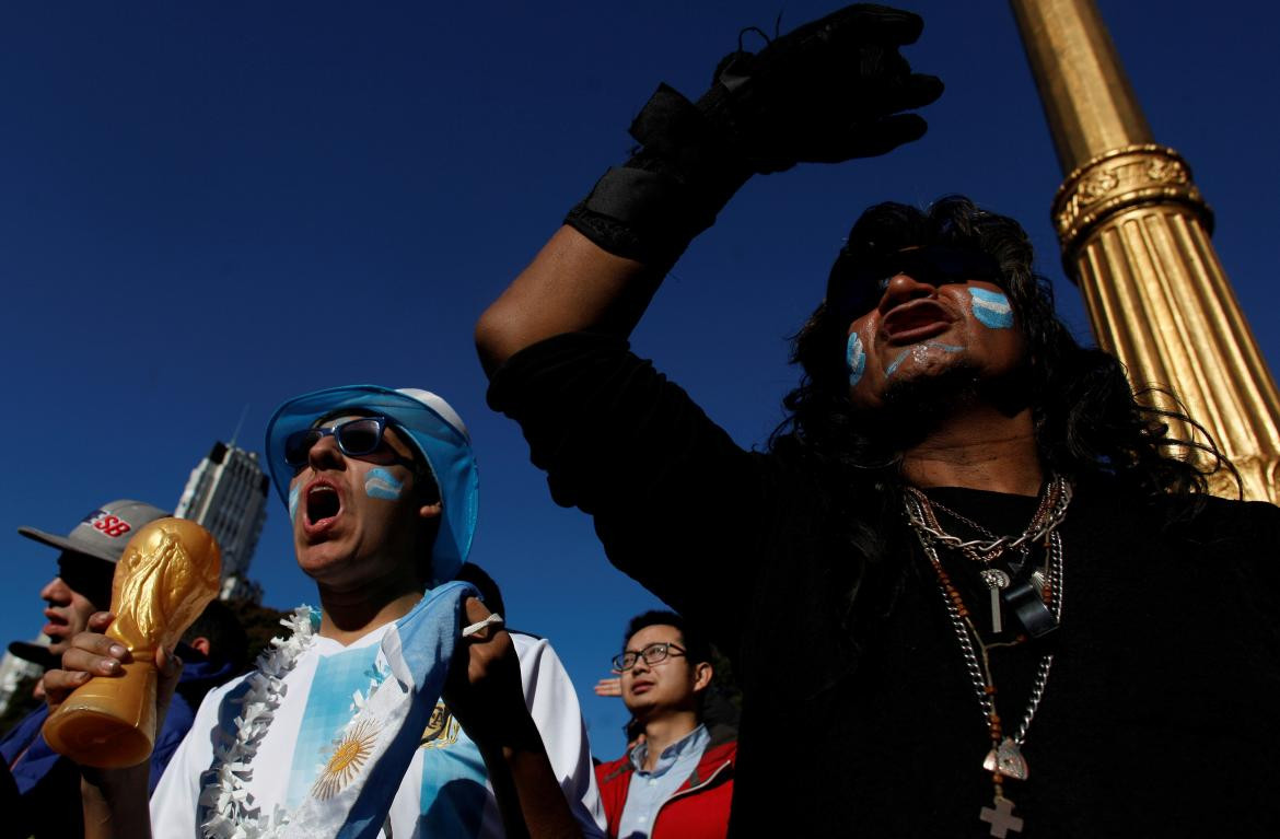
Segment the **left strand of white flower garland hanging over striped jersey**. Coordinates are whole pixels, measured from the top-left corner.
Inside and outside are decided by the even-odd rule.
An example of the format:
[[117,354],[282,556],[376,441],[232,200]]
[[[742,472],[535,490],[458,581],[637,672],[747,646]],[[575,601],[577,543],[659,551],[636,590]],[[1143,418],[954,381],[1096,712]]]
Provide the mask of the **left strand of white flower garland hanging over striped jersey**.
[[284,677],[315,643],[312,614],[310,606],[298,606],[280,620],[293,634],[288,639],[273,638],[271,647],[259,656],[256,670],[246,679],[248,689],[241,698],[236,737],[214,744],[216,776],[200,793],[200,806],[212,811],[201,825],[206,839],[269,839],[288,824],[282,807],[270,816],[259,816],[259,808],[250,806],[244,781],[253,776],[253,755],[280,705]]

